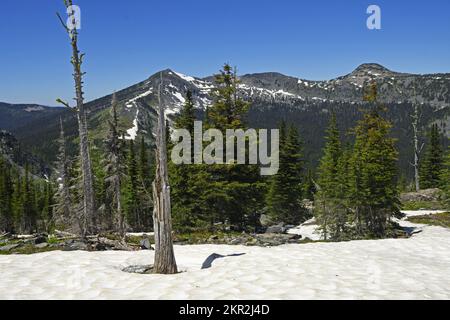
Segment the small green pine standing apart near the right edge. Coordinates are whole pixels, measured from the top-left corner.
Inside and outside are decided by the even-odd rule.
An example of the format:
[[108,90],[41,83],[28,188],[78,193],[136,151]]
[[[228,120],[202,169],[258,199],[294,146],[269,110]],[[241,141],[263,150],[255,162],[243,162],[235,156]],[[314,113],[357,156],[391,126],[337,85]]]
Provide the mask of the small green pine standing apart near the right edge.
[[429,142],[420,170],[422,189],[439,188],[440,173],[443,167],[443,147],[441,134],[437,124],[433,124],[429,133]]

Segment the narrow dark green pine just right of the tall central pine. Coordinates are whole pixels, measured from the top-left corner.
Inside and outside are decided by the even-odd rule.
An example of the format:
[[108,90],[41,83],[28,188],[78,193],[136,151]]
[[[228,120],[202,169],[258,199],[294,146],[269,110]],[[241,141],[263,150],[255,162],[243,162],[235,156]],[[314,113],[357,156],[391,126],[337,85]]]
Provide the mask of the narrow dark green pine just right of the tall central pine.
[[298,131],[280,126],[280,168],[273,176],[267,196],[268,214],[274,222],[298,224],[305,220],[302,206],[302,154]]

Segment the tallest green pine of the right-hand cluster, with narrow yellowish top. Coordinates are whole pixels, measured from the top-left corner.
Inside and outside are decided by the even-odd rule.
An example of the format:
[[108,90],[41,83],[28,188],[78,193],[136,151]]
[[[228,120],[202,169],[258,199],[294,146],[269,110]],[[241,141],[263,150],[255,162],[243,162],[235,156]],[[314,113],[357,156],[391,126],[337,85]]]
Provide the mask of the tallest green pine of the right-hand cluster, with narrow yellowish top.
[[380,115],[377,89],[372,84],[365,100],[375,104],[355,128],[355,146],[350,159],[350,203],[357,231],[383,237],[388,222],[399,214],[397,151],[390,137],[391,124]]

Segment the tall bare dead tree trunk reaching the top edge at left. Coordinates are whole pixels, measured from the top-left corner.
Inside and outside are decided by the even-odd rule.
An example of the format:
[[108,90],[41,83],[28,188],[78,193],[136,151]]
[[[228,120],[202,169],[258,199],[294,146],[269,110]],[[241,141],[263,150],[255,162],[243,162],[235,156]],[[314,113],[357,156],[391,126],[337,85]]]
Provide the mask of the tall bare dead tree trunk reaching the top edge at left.
[[[84,98],[83,98],[83,75],[84,73],[81,71],[81,65],[83,63],[84,54],[81,54],[78,50],[78,31],[76,28],[77,21],[75,17],[75,13],[72,9],[72,0],[64,1],[69,19],[71,19],[72,24],[69,28],[66,24],[64,24],[63,20],[60,17],[60,20],[65,27],[67,33],[71,39],[72,45],[72,60],[71,63],[73,65],[74,73],[74,81],[75,81],[75,93],[76,93],[76,107],[74,108],[77,112],[78,119],[78,130],[80,137],[80,160],[81,160],[81,172],[82,172],[82,180],[83,180],[83,211],[82,211],[82,226],[81,226],[81,234],[83,237],[86,237],[89,233],[91,233],[94,222],[94,211],[95,211],[95,200],[94,200],[94,178],[92,172],[92,163],[89,152],[89,138],[88,138],[88,129],[87,129],[87,120],[86,120],[86,110],[84,108]],[[58,15],[59,16],[59,15]],[[59,100],[59,102],[62,102]],[[62,102],[65,106],[69,107],[68,103]]]

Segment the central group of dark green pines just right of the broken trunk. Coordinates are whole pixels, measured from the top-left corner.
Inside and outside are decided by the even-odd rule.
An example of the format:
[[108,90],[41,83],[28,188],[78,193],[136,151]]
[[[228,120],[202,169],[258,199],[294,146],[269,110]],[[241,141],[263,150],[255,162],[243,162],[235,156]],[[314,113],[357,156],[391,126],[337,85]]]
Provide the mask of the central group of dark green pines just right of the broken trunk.
[[[247,129],[250,103],[238,96],[238,83],[236,71],[229,65],[215,76],[214,103],[205,112],[204,130]],[[193,136],[196,120],[200,119],[196,119],[192,96],[188,93],[174,128],[188,129]],[[306,180],[302,146],[293,126],[282,125],[279,152],[279,174],[269,178],[260,175],[259,165],[237,164],[236,158],[226,165],[170,163],[174,228],[257,231],[262,214],[274,223],[295,224],[306,220],[307,212],[302,206]],[[227,163],[223,157],[223,163]]]

